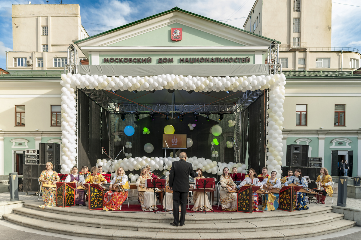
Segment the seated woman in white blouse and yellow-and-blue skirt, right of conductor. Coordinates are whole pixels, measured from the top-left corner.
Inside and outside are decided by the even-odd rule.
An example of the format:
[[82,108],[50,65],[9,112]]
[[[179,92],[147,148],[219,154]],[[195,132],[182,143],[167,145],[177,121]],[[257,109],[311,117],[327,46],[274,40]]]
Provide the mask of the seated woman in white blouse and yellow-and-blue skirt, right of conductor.
[[[277,172],[276,171],[272,171],[271,172],[271,177],[270,178],[265,178],[261,184],[262,186],[264,186],[263,188],[270,191],[272,188],[277,187],[280,188],[281,187],[281,181],[276,178]],[[265,184],[266,183],[274,183],[275,185],[270,186],[270,187],[266,187]],[[262,210],[266,210],[266,211],[273,211],[273,210],[277,210],[278,209],[278,204],[279,204],[279,194],[277,193],[272,193],[272,194],[265,194],[265,201],[262,205]]]

